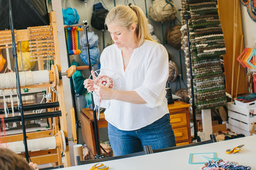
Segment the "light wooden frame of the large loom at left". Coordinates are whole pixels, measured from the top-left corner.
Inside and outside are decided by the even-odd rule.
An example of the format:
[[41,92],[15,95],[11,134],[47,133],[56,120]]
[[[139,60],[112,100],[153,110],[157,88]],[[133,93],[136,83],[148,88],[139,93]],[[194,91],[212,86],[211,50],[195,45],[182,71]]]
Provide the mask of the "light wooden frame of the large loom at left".
[[[61,61],[60,61],[60,53],[59,53],[59,43],[58,43],[58,32],[57,32],[57,22],[56,22],[56,15],[54,11],[51,11],[49,13],[49,19],[50,19],[50,25],[52,25],[53,28],[53,39],[54,39],[54,49],[55,49],[55,58],[54,58],[54,64],[57,66],[58,71],[61,70]],[[22,29],[22,30],[15,30],[16,31],[16,36],[15,40],[16,41],[25,41],[29,40],[28,36],[28,29]],[[44,65],[43,61],[38,61],[38,70],[44,70]],[[59,79],[59,73],[55,73],[55,77]],[[31,158],[31,161],[37,164],[47,164],[47,163],[55,163],[57,165],[63,165],[62,164],[62,155],[64,156],[65,159],[65,167],[70,166],[70,154],[69,154],[69,146],[68,146],[68,131],[67,131],[67,112],[65,109],[65,101],[64,101],[64,93],[63,93],[63,86],[62,86],[62,80],[58,80],[58,102],[59,102],[59,107],[57,110],[58,114],[61,115],[58,117],[53,117],[53,120],[49,120],[50,124],[50,130],[45,130],[45,131],[38,131],[38,132],[29,132],[26,133],[26,139],[36,139],[36,138],[44,138],[44,137],[51,137],[53,134],[52,130],[52,122],[54,121],[54,134],[57,134],[58,131],[61,130],[63,131],[65,135],[65,143],[66,143],[66,151],[61,151],[61,148],[57,147],[55,149],[48,149],[48,150],[40,150],[40,151],[35,151],[35,152],[30,152],[29,156]],[[36,85],[31,85],[31,86],[25,86],[21,87],[22,89],[24,88],[47,88],[47,87],[52,87],[52,84],[36,84]],[[71,117],[73,116],[74,113],[71,113]],[[59,126],[60,124],[60,126]],[[73,128],[72,128],[73,129]],[[74,135],[74,134],[73,134]],[[7,135],[5,140],[6,142],[14,142],[14,141],[21,141],[23,140],[23,135],[22,134],[12,134],[12,135]],[[74,138],[74,136],[73,136]],[[75,135],[76,138],[76,135]],[[4,141],[4,137],[1,137],[2,141]],[[23,157],[26,157],[24,153],[20,154]]]

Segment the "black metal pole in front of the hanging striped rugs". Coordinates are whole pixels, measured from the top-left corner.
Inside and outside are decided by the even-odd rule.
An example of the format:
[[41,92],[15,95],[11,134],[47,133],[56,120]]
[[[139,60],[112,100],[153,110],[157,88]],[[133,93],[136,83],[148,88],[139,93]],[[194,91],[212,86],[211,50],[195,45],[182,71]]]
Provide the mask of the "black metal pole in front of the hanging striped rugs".
[[188,20],[191,18],[189,12],[183,13],[183,19],[186,20],[187,25],[187,37],[188,37],[188,57],[189,57],[189,70],[190,70],[190,86],[191,86],[191,98],[192,98],[192,110],[193,110],[193,122],[194,122],[194,139],[197,142],[200,142],[201,139],[197,135],[197,125],[196,125],[196,106],[195,106],[195,98],[194,98],[194,85],[193,85],[193,72],[192,72],[192,65],[191,65],[191,55],[190,55],[190,42],[189,42],[189,28],[188,28]]

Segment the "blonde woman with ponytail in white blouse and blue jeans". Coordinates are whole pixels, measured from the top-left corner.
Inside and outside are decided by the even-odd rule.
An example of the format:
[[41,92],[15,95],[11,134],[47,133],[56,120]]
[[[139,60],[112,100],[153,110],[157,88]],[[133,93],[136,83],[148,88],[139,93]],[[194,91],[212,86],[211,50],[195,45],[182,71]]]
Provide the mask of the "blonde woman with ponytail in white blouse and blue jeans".
[[[114,43],[100,57],[101,70],[111,70],[121,79],[121,89],[84,86],[105,106],[108,135],[115,156],[176,146],[165,98],[168,54],[150,36],[148,20],[138,6],[118,5],[106,16],[105,23]],[[95,98],[94,98],[95,99]],[[95,101],[98,101],[95,99]]]

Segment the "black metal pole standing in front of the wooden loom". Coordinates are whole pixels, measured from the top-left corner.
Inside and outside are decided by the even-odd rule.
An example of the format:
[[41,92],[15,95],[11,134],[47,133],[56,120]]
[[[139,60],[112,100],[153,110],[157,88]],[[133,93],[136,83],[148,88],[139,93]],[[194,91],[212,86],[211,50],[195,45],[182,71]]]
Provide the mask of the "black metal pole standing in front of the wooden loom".
[[24,146],[25,146],[26,160],[27,160],[27,162],[29,162],[28,143],[27,143],[27,135],[26,135],[25,120],[24,120],[23,104],[22,104],[21,90],[20,90],[20,77],[19,77],[17,51],[16,51],[15,36],[14,36],[11,0],[9,0],[9,20],[10,20],[10,29],[11,29],[11,32],[12,32],[12,54],[13,54],[15,74],[16,74],[16,80],[17,80],[17,95],[18,95],[18,98],[19,98],[19,113],[21,115],[23,143],[24,143]]

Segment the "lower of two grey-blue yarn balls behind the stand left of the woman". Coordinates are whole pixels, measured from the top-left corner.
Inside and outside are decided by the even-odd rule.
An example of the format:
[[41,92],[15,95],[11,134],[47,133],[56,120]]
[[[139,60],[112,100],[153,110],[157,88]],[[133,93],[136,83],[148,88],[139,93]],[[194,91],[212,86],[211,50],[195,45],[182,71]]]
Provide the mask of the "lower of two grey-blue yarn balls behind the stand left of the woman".
[[[89,48],[90,52],[90,58],[91,58],[91,64],[94,65],[98,62],[99,57],[100,57],[100,51],[97,47]],[[82,48],[81,54],[79,55],[81,60],[88,65],[88,60],[87,60],[87,49]]]

